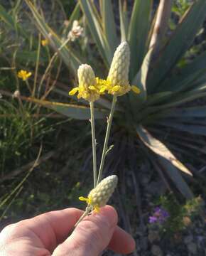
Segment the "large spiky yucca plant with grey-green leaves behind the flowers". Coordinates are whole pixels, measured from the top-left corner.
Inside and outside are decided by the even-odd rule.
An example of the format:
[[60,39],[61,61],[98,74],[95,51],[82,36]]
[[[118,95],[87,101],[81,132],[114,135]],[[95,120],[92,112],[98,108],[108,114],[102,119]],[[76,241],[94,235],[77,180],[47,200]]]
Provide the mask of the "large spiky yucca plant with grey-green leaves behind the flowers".
[[[77,54],[75,44],[57,36],[40,16],[37,7],[29,0],[25,1],[36,26],[70,70],[75,71],[81,63],[88,63]],[[153,14],[152,0],[136,0],[129,18],[127,1],[119,0],[119,36],[115,19],[117,10],[112,1],[99,0],[97,8],[91,0],[79,0],[68,28],[75,19],[86,21],[85,30],[89,30],[95,49],[102,58],[102,70],[97,70],[102,76],[104,70],[109,69],[116,46],[121,41],[128,41],[131,50],[129,80],[131,85],[141,89],[141,93],[129,92],[117,102],[114,120],[116,126],[124,131],[121,141],[130,142],[132,152],[136,149],[149,159],[169,188],[178,188],[185,198],[192,198],[193,193],[183,176],[192,177],[193,172],[180,160],[185,156],[205,164],[200,153],[205,153],[202,136],[206,135],[206,106],[185,103],[206,95],[206,53],[201,53],[181,68],[178,63],[192,45],[205,19],[206,0],[194,1],[173,33],[168,35],[172,4],[172,0],[160,0],[156,14]],[[88,44],[87,47],[91,50],[94,46]],[[58,92],[68,97],[67,92]],[[75,97],[72,99],[76,100]],[[76,119],[90,118],[90,107],[84,101],[81,105],[63,105],[34,98],[28,100]],[[105,119],[111,99],[101,97],[94,107],[95,117]],[[136,159],[131,159],[131,150],[124,151],[124,156],[126,153],[129,165],[134,163]],[[134,166],[131,164],[130,168]]]

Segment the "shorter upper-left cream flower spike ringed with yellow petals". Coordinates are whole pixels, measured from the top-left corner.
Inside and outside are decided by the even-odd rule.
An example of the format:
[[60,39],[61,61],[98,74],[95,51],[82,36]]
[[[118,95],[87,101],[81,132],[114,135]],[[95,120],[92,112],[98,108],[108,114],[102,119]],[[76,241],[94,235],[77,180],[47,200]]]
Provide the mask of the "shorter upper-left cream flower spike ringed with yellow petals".
[[94,102],[99,99],[99,87],[94,75],[92,67],[87,64],[82,64],[77,70],[79,86],[73,88],[69,95],[75,95],[78,92],[77,98],[81,97],[89,102]]

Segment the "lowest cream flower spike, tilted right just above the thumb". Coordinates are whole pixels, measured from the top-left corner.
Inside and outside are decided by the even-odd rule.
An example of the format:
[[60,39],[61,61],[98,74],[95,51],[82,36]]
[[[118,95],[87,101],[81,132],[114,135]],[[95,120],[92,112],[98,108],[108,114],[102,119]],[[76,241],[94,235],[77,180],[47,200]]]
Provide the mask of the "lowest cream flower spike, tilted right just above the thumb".
[[116,175],[108,176],[104,178],[99,184],[90,191],[87,198],[80,196],[80,201],[86,201],[88,207],[92,207],[96,213],[99,212],[99,208],[103,207],[109,201],[114,189],[116,188],[118,177]]

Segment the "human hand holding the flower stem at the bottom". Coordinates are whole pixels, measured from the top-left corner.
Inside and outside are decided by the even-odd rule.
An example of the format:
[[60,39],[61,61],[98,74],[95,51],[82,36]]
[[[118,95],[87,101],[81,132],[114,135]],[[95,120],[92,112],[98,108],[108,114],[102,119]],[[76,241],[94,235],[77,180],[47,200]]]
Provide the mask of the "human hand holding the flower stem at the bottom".
[[112,206],[84,218],[68,237],[82,213],[67,208],[6,226],[0,233],[0,255],[96,256],[106,247],[121,254],[134,251],[135,242],[116,225],[117,214]]

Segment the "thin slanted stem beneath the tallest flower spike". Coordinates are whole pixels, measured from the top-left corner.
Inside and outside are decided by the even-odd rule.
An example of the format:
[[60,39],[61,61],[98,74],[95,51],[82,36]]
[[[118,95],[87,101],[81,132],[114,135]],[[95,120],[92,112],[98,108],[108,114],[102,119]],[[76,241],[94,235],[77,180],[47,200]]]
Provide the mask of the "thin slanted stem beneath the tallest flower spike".
[[111,126],[112,126],[112,118],[113,118],[113,114],[114,114],[115,105],[116,105],[116,96],[114,95],[113,100],[112,100],[111,111],[110,111],[110,114],[109,114],[109,119],[107,120],[107,132],[106,132],[105,139],[104,139],[104,147],[103,147],[103,151],[102,151],[102,159],[101,159],[101,163],[100,163],[100,167],[99,167],[99,175],[98,175],[98,178],[97,178],[97,184],[102,179],[102,171],[103,171],[103,168],[104,168],[104,160],[105,160],[105,157],[107,155],[109,134],[110,134]]

